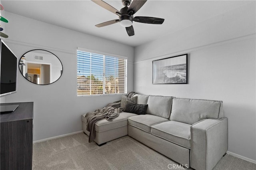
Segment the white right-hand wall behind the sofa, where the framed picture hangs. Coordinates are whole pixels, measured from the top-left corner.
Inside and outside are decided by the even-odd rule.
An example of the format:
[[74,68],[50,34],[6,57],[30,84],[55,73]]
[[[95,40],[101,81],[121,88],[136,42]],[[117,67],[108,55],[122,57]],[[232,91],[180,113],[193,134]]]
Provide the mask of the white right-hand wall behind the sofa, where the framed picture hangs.
[[[255,1],[135,48],[134,90],[222,100],[228,151],[256,160]],[[188,53],[188,84],[153,85],[152,60]],[[253,161],[252,161],[253,162]]]

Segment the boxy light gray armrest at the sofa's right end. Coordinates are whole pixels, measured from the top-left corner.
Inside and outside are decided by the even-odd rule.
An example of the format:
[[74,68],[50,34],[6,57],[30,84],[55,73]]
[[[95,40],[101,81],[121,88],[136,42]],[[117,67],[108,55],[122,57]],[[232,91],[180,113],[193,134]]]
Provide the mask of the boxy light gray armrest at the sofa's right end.
[[228,150],[228,119],[205,119],[190,128],[190,166],[211,170]]

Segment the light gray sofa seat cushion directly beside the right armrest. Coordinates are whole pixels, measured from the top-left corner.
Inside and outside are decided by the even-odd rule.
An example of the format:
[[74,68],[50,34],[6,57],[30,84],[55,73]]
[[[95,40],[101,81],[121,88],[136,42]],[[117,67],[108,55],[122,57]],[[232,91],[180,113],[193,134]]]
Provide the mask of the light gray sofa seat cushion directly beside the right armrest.
[[152,126],[151,133],[155,136],[190,148],[190,127],[191,125],[176,121],[168,121]]

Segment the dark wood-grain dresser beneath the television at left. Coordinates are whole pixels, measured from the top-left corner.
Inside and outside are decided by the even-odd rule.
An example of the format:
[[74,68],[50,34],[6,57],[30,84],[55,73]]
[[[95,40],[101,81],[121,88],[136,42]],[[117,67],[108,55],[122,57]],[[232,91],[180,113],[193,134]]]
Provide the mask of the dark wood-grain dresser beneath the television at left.
[[1,103],[19,105],[8,114],[1,114],[1,170],[32,170],[33,102]]

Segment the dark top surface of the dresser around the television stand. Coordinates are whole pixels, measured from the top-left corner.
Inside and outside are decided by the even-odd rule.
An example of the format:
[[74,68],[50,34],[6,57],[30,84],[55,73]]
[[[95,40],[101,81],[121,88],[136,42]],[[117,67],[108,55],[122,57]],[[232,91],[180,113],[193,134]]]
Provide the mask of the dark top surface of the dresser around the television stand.
[[33,119],[33,105],[34,102],[23,102],[23,103],[1,103],[2,105],[19,105],[17,109],[12,113],[1,114],[0,121],[10,122],[19,121],[25,119]]

